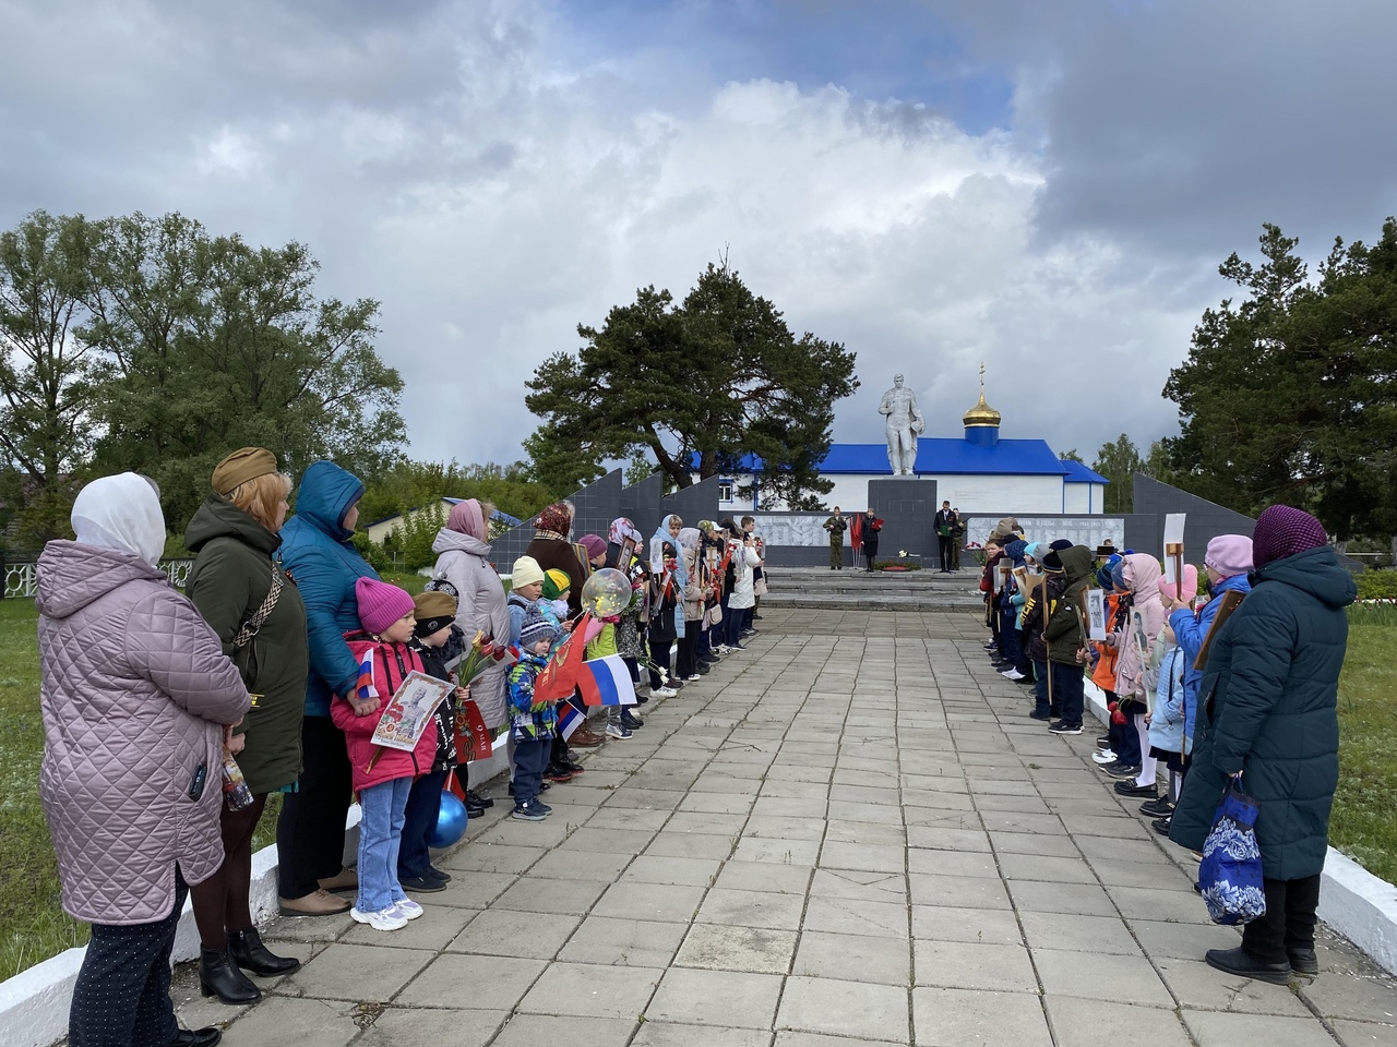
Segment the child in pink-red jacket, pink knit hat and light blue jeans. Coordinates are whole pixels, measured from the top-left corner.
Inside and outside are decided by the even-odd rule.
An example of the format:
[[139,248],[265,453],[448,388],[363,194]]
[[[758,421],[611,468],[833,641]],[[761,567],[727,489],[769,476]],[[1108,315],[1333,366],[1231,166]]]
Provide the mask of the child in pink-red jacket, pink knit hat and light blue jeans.
[[355,582],[355,597],[363,631],[346,632],[345,642],[359,662],[359,684],[352,695],[337,695],[330,704],[331,719],[345,733],[353,787],[363,807],[359,898],[349,914],[376,931],[395,931],[422,916],[422,906],[409,900],[398,882],[398,846],[412,779],[432,769],[437,733],[429,718],[411,752],[373,743],[383,709],[408,673],[423,667],[408,646],[416,624],[412,597],[374,578]]

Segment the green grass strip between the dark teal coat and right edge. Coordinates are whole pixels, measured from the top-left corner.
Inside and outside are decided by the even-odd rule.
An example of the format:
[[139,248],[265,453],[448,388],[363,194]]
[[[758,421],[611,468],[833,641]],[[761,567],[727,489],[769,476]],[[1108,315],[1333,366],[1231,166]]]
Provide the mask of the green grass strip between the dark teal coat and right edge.
[[[1384,609],[1386,610],[1386,609]],[[1397,624],[1351,614],[1338,683],[1340,775],[1330,843],[1397,882]]]

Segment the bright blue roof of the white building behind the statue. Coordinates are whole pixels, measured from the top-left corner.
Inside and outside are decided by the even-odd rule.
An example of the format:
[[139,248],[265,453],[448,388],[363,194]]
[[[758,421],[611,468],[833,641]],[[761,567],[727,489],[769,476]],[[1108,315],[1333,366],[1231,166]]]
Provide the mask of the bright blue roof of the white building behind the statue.
[[[698,456],[690,458],[698,468]],[[759,473],[761,459],[743,455],[735,472]],[[830,444],[820,472],[891,476],[884,444]],[[921,437],[916,441],[916,472],[923,476],[1062,476],[1065,483],[1106,483],[1080,462],[1065,462],[1042,440],[1004,440],[993,447],[958,437]]]

